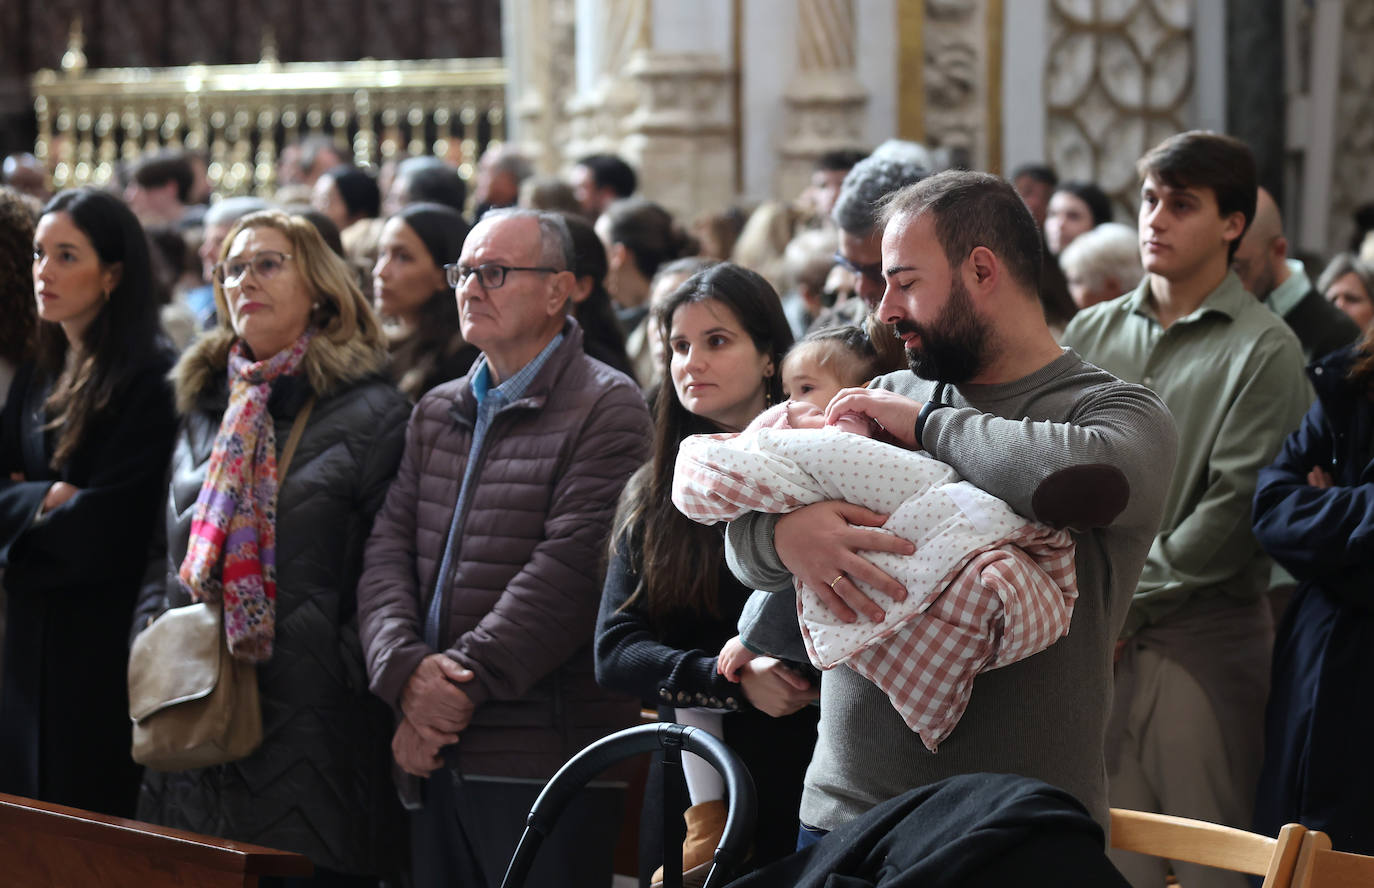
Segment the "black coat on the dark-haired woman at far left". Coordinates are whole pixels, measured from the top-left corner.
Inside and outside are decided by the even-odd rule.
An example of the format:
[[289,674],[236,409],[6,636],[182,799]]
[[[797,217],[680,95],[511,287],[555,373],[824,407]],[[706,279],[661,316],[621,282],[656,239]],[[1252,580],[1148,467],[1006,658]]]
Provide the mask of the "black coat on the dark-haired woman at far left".
[[[43,429],[51,382],[32,364],[15,377],[0,432],[0,792],[133,812],[126,627],[176,433],[170,366],[150,355],[62,471],[48,467],[55,436]],[[34,521],[55,481],[81,492]]]

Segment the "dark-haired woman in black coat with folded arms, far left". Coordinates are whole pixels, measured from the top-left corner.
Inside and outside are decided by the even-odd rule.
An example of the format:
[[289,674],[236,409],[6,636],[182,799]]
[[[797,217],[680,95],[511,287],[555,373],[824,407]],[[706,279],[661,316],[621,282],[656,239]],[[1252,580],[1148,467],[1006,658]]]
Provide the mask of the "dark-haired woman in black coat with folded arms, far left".
[[172,353],[118,198],[63,191],[29,236],[37,348],[0,419],[0,792],[129,817],[126,628],[176,433]]

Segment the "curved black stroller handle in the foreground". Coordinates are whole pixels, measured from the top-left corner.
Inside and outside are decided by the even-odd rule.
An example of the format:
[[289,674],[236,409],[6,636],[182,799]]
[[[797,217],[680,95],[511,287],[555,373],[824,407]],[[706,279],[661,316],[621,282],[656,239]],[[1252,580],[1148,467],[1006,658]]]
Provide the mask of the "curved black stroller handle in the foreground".
[[610,766],[646,752],[658,749],[687,751],[701,756],[714,767],[725,784],[730,808],[725,814],[725,832],[716,847],[714,863],[703,888],[719,888],[743,862],[749,852],[749,841],[758,817],[758,800],[754,795],[754,779],[749,775],[739,757],[724,742],[695,727],[658,723],[639,724],[602,737],[592,745],[567,760],[554,774],[552,779],[539,793],[534,807],[525,821],[525,833],[515,845],[502,888],[522,888],[540,843],[554,829],[558,817],[569,800],[583,786]]

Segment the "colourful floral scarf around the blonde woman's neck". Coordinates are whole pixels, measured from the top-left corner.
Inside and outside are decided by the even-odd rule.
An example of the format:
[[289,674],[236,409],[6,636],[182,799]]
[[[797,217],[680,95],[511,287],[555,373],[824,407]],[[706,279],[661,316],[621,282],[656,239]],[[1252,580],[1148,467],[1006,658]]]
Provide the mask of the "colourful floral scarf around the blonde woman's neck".
[[229,653],[272,657],[276,620],[276,432],[267,410],[272,382],[300,373],[306,330],[268,360],[251,360],[243,341],[229,351],[229,407],[191,515],[181,584],[194,601],[224,599]]

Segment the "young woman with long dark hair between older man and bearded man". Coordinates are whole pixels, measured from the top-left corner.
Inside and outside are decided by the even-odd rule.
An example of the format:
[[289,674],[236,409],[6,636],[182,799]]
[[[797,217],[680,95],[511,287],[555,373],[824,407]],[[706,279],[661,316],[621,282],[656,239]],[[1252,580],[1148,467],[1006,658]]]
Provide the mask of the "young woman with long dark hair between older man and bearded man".
[[[752,661],[738,685],[716,672],[716,654],[736,634],[750,590],[725,566],[721,528],[687,520],[671,492],[684,437],[738,432],[782,400],[778,368],[791,330],[768,282],[728,263],[692,275],[655,309],[655,320],[668,357],[654,407],[653,459],[621,496],[596,627],[596,676],[657,704],[669,720],[677,709],[725,712],[725,742],[743,757],[775,814],[758,823],[753,861],[761,865],[796,844],[802,775],[816,737],[816,712],[807,704],[816,693],[767,657]],[[661,792],[662,781],[651,777],[643,883],[662,859]],[[701,850],[709,861],[710,836],[723,817],[719,801],[694,803],[687,811],[688,869],[702,863]]]

